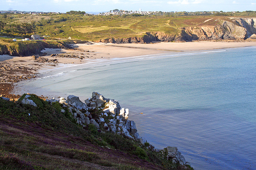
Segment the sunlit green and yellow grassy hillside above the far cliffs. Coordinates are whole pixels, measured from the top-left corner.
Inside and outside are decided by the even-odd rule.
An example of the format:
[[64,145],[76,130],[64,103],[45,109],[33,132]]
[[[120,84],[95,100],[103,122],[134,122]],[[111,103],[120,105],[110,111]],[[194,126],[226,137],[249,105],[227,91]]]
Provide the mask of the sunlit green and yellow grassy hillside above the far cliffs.
[[[241,15],[241,13],[232,15]],[[51,37],[71,37],[91,41],[99,41],[100,39],[112,37],[127,38],[143,36],[146,32],[163,32],[178,35],[181,33],[179,28],[182,27],[216,26],[222,20],[231,20],[230,16],[216,15],[83,16],[68,14],[8,14],[6,18],[3,16],[4,14],[0,14],[0,20],[7,23],[2,31],[5,35],[12,34],[29,37],[31,34],[40,34]],[[28,24],[25,25],[25,23]],[[26,32],[26,28],[30,33],[28,31]]]

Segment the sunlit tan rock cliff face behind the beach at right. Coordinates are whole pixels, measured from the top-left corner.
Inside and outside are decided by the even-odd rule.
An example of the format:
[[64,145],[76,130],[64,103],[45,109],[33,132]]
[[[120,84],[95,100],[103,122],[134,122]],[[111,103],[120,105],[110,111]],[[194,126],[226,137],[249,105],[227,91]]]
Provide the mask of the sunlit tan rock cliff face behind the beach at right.
[[[213,18],[212,18],[213,19]],[[211,20],[211,19],[210,19]],[[193,40],[245,40],[256,36],[256,18],[232,18],[232,20],[215,20],[218,25],[207,24],[202,26],[179,28],[179,34],[165,34],[162,32],[147,32],[142,37],[107,38],[100,42],[112,43],[150,43],[153,41],[179,42]],[[208,20],[209,21],[209,20]]]

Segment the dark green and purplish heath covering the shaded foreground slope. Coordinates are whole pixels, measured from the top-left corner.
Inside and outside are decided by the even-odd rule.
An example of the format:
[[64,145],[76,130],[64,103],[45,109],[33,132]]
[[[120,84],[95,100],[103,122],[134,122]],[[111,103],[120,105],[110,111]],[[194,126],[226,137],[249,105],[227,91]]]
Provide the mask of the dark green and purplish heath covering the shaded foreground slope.
[[81,127],[59,103],[30,94],[37,107],[0,99],[0,169],[193,169],[149,144]]

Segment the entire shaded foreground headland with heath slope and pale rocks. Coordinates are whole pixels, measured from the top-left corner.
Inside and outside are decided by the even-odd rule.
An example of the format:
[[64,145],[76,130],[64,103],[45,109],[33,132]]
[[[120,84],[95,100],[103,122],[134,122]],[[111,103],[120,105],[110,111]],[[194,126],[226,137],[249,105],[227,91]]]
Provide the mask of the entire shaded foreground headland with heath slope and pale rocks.
[[129,110],[93,92],[48,99],[0,96],[0,169],[193,170],[176,147],[141,138]]

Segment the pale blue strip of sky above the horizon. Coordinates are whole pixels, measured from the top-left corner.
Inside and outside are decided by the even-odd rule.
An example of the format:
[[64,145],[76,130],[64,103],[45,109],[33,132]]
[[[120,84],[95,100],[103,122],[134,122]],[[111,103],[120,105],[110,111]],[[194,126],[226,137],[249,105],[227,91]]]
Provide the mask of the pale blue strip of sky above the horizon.
[[255,11],[256,0],[0,0],[1,10],[37,12]]

